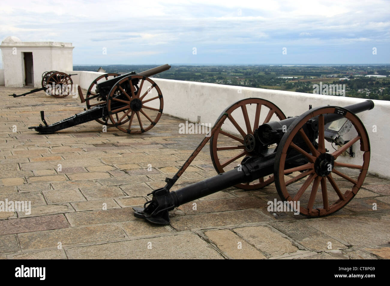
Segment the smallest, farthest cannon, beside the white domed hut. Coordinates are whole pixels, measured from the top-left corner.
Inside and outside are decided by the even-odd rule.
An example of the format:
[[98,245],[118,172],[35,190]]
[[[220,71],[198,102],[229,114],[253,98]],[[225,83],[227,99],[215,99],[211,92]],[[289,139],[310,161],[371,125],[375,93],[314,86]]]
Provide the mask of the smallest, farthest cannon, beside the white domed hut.
[[73,88],[73,81],[71,78],[72,75],[77,75],[77,74],[66,74],[64,72],[58,72],[57,70],[44,72],[42,74],[42,81],[41,81],[42,88],[35,88],[21,95],[16,95],[14,93],[14,94],[10,94],[9,96],[24,97],[31,93],[46,90],[46,93],[53,97],[57,97],[57,98],[67,97]]

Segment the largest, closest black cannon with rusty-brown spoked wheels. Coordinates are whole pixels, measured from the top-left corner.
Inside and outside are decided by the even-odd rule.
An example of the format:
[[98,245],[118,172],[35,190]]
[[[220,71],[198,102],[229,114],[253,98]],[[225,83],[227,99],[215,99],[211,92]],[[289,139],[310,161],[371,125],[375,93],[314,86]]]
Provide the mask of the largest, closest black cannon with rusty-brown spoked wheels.
[[[168,211],[179,205],[232,186],[254,190],[272,182],[284,203],[300,203],[300,214],[332,214],[352,200],[367,174],[370,142],[356,113],[372,108],[374,103],[366,100],[345,107],[312,108],[300,116],[286,118],[267,100],[240,100],[222,112],[176,175],[165,179],[165,187],[148,194],[152,199],[144,207],[133,207],[134,216],[167,225]],[[218,175],[170,191],[208,141]],[[347,153],[355,156],[351,159],[354,164],[342,160]]]

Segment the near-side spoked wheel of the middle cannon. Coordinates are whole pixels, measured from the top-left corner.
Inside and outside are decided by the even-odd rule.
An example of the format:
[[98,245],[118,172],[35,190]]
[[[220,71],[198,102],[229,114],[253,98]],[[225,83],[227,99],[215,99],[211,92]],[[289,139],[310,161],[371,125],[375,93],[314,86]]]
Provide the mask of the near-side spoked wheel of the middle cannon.
[[[129,75],[121,79],[112,87],[107,98],[108,116],[113,126],[129,134],[150,130],[160,119],[163,106],[160,88],[143,75]],[[129,118],[128,124],[120,126],[126,118]]]

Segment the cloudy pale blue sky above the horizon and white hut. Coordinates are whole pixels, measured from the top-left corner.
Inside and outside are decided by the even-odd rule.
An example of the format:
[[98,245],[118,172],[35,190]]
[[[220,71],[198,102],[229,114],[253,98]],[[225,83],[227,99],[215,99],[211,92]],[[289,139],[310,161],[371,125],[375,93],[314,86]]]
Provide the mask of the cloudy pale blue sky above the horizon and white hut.
[[390,63],[389,7],[388,0],[0,0],[0,40],[71,42],[74,65]]

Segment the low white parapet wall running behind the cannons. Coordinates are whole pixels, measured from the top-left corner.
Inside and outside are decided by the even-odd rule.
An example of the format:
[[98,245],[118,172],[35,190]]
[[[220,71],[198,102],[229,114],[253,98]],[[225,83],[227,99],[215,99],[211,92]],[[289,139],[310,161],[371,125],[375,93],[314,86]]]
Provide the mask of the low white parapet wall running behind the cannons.
[[[72,77],[73,81],[80,84],[81,88],[84,89],[88,89],[91,82],[101,75],[98,72],[68,72],[78,73],[77,76]],[[324,105],[346,106],[364,101],[360,98],[245,88],[202,82],[158,78],[153,80],[158,84],[163,94],[163,113],[181,118],[183,123],[185,120],[196,122],[197,117],[200,116],[201,123],[214,124],[226,107],[238,100],[251,97],[273,102],[284,112],[285,116],[300,115],[308,110],[309,105],[312,105],[313,108]],[[367,129],[371,143],[369,172],[390,178],[388,159],[390,154],[390,102],[384,100],[373,101],[375,103],[374,109],[358,114]],[[179,126],[177,126],[177,130],[179,130]],[[358,142],[355,143],[354,148],[358,148],[358,144]],[[328,149],[332,148],[330,145],[326,147]],[[359,159],[346,156],[340,160],[354,164]]]

